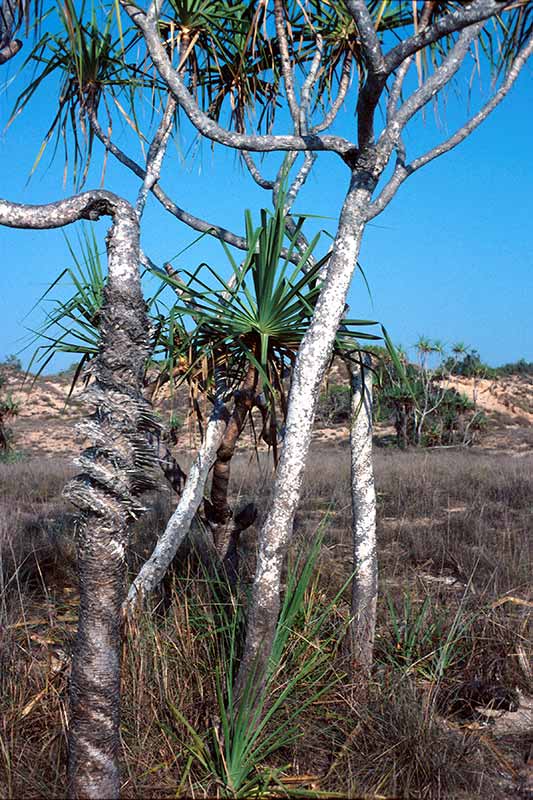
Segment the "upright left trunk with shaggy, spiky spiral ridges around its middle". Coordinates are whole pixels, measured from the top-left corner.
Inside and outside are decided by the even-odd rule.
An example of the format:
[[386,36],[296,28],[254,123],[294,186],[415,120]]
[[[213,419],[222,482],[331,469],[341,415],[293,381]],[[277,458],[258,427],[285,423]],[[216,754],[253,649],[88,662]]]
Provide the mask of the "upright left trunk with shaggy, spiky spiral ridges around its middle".
[[68,791],[72,798],[119,796],[121,609],[137,495],[153,484],[148,434],[156,427],[142,397],[149,328],[139,279],[138,225],[128,208],[108,238],[109,278],[100,352],[80,425],[91,446],[65,490],[81,511],[80,609],[70,690]]

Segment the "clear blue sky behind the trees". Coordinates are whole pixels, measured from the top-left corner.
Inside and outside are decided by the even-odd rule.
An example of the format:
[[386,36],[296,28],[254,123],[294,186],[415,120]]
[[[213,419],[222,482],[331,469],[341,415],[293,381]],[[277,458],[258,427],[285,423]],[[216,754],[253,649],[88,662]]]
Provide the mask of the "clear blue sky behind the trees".
[[[2,67],[2,80],[15,74]],[[7,70],[4,72],[4,70]],[[4,129],[20,84],[0,95]],[[31,115],[25,113],[0,138],[0,194],[18,202],[42,203],[68,194],[63,187],[61,153],[27,183],[33,160],[53,112],[54,100],[42,92]],[[526,358],[533,361],[533,72],[529,66],[511,94],[465,143],[425,167],[400,189],[388,209],[369,225],[361,253],[372,302],[360,278],[350,291],[351,314],[383,322],[395,342],[408,347],[421,334],[451,344],[463,340],[490,364]],[[450,97],[445,121],[449,132],[464,116],[464,98]],[[463,116],[461,116],[461,110]],[[148,110],[146,110],[148,114]],[[343,112],[336,132],[354,138],[353,116]],[[429,110],[407,137],[411,155],[446,135]],[[140,158],[127,131],[117,128],[123,146]],[[190,133],[183,131],[186,150]],[[242,232],[245,208],[268,205],[269,195],[243,172],[232,151],[204,145],[200,156],[184,162],[173,146],[163,185],[176,202],[198,216]],[[51,149],[51,148],[50,148]],[[275,157],[272,157],[275,159]],[[101,159],[87,188],[99,185]],[[302,192],[297,210],[338,215],[348,170],[338,157],[319,156],[318,168]],[[272,162],[273,163],[273,162]],[[269,174],[273,168],[266,170]],[[134,200],[137,181],[110,157],[106,187]],[[335,221],[320,223],[330,232]],[[105,223],[96,226],[105,233]],[[74,231],[70,231],[74,236]],[[151,201],[145,216],[143,247],[156,261],[171,258],[197,234],[159,211]],[[326,243],[327,240],[324,240]],[[40,312],[27,312],[57,274],[69,265],[59,231],[0,228],[0,358],[20,349],[25,328]],[[179,258],[178,267],[201,261],[224,269],[220,245],[203,239]],[[57,293],[56,295],[57,296]],[[27,355],[22,354],[23,362]],[[57,367],[65,362],[57,362]]]

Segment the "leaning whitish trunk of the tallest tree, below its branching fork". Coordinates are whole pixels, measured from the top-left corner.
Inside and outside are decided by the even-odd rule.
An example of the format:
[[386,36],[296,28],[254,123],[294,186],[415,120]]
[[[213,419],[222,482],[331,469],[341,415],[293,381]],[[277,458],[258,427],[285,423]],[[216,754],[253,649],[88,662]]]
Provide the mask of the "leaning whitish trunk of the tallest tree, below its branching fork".
[[283,450],[270,511],[260,532],[245,651],[235,687],[237,699],[251,685],[260,691],[268,674],[280,608],[281,569],[300,498],[320,385],[344,313],[374,185],[368,172],[352,173],[327,275],[296,359]]

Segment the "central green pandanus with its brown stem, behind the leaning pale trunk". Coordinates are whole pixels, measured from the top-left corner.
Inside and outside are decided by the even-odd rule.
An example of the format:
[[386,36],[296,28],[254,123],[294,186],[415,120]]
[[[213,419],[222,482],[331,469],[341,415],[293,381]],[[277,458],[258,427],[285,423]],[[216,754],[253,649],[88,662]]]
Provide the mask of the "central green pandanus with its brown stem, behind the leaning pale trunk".
[[[231,267],[229,280],[205,264],[193,273],[183,272],[183,278],[175,274],[163,278],[180,295],[173,313],[188,314],[195,325],[189,334],[191,367],[181,380],[198,382],[200,375],[201,389],[208,395],[213,396],[222,385],[226,400],[233,402],[213,468],[210,498],[205,501],[206,518],[221,558],[228,549],[235,554],[240,532],[254,519],[249,507],[234,517],[229,505],[230,465],[237,442],[257,408],[262,417],[260,436],[277,461],[292,366],[318,299],[321,269],[329,258],[327,253],[311,263],[318,235],[298,254],[304,220],[289,234],[283,200],[280,196],[273,213],[261,212],[257,229],[251,214],[246,214],[249,250],[242,264],[225,247]],[[358,339],[378,339],[356,330],[374,324],[344,320],[335,352],[353,349]]]

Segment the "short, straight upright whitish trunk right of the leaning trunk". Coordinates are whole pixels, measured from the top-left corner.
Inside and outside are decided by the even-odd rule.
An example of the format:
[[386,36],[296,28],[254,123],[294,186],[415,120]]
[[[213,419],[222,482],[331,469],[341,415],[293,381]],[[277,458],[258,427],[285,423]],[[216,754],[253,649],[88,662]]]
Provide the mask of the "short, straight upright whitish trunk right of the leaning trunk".
[[[376,491],[372,466],[372,360],[350,365],[353,579],[349,628],[352,669],[372,666],[378,596]],[[354,676],[355,677],[355,676]]]

